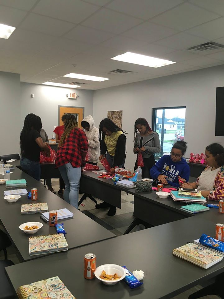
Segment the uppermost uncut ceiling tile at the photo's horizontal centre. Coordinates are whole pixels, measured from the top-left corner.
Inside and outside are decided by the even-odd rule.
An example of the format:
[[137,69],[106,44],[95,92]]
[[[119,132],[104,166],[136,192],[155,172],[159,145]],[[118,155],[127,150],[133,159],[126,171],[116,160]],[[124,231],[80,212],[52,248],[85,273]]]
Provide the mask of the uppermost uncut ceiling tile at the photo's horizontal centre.
[[141,22],[140,19],[103,8],[84,21],[82,25],[119,34]]

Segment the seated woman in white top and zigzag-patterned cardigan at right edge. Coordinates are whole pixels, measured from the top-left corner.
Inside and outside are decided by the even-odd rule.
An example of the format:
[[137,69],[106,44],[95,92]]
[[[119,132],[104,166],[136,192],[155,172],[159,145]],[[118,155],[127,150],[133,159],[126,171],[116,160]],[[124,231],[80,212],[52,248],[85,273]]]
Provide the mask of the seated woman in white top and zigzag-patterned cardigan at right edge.
[[183,188],[197,188],[202,196],[209,200],[224,199],[224,148],[218,143],[212,143],[205,148],[207,167],[194,183],[184,183]]

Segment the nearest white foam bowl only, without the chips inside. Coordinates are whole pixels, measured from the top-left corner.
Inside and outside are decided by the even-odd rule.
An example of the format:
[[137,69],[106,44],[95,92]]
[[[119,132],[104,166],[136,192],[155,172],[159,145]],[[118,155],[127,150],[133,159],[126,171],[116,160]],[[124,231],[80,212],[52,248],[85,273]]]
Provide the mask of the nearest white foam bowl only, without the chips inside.
[[[100,275],[103,270],[106,272],[106,274],[109,274],[109,275],[114,275],[115,273],[117,273],[119,276],[121,276],[121,278],[116,279],[116,280],[104,280],[104,279],[100,278]],[[124,268],[122,268],[119,265],[105,264],[105,265],[101,265],[101,266],[97,267],[94,274],[97,279],[99,279],[101,282],[103,282],[107,286],[113,286],[114,284],[118,283],[119,281],[121,281],[122,279],[125,278],[126,272],[125,272]]]

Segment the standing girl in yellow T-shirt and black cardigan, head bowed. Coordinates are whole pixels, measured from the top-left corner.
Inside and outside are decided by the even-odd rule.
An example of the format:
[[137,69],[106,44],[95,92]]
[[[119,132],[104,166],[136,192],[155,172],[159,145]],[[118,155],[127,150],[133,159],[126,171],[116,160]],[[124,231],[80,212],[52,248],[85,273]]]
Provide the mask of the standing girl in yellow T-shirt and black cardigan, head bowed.
[[[105,157],[110,164],[110,173],[115,173],[115,166],[124,167],[126,156],[126,132],[121,130],[109,118],[104,118],[100,122],[99,140],[100,140],[100,161]],[[110,207],[107,215],[116,214],[116,207],[106,202],[96,204],[96,209]]]

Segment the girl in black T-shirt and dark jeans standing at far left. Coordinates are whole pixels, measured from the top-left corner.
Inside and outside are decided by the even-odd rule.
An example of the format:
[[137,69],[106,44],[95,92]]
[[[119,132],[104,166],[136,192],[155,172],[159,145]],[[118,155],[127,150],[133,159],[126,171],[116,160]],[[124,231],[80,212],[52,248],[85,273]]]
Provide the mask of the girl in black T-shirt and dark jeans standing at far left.
[[37,181],[40,181],[40,151],[44,150],[50,155],[48,146],[40,136],[41,128],[40,117],[30,113],[25,117],[20,133],[21,168]]

